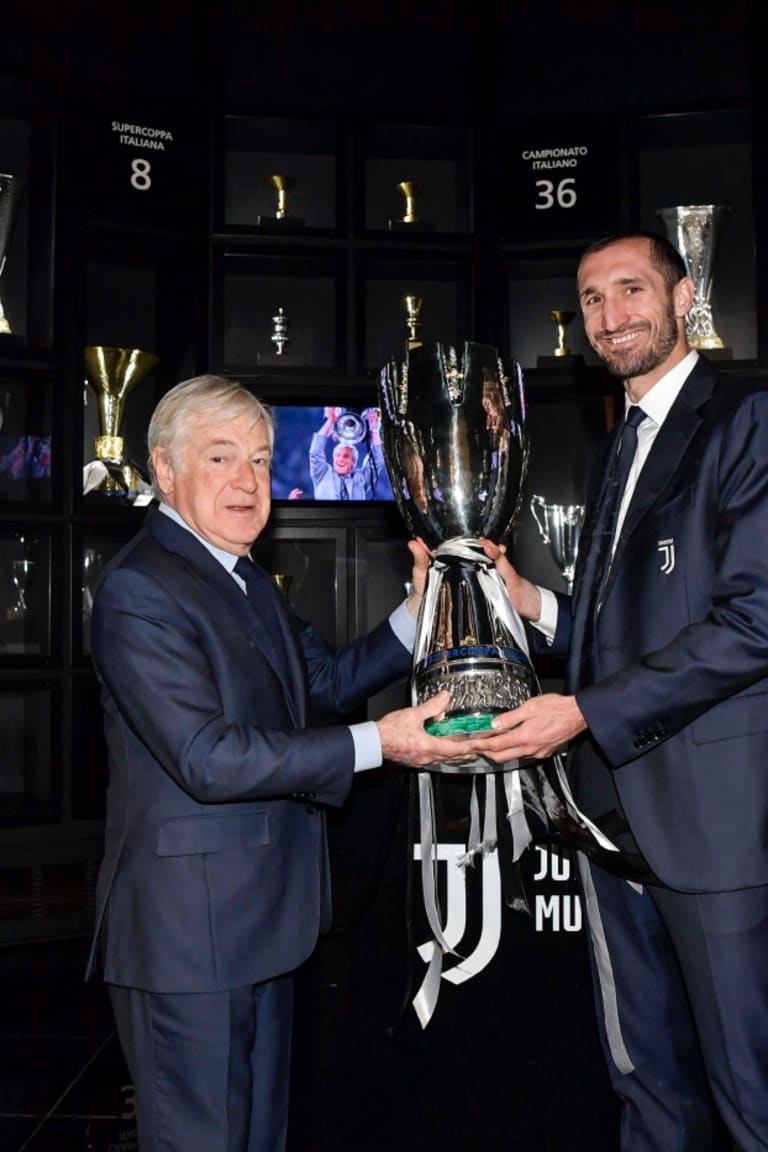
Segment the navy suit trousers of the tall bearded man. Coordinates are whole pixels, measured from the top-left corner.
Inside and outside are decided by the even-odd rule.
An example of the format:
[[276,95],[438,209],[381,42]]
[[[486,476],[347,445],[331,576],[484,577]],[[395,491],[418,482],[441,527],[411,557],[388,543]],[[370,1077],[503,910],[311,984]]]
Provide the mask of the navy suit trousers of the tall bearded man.
[[768,888],[638,892],[579,871],[622,1152],[766,1152]]

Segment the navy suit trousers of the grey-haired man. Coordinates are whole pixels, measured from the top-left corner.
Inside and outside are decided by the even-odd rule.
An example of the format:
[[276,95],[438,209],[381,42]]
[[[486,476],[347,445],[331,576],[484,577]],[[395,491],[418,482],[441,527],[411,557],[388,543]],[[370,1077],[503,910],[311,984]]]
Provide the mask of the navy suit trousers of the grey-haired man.
[[142,1152],[282,1152],[294,978],[165,994],[109,985]]

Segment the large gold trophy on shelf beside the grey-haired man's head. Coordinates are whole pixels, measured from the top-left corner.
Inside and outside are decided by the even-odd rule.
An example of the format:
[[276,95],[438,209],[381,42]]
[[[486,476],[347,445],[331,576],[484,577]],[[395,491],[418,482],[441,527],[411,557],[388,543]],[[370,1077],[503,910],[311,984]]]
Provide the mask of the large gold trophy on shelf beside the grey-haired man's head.
[[124,495],[139,488],[138,472],[123,460],[120,429],[128,395],[158,363],[158,356],[138,348],[98,344],[85,349],[85,378],[99,401],[101,434],[94,440],[96,458],[108,465],[111,472],[96,490],[100,495]]

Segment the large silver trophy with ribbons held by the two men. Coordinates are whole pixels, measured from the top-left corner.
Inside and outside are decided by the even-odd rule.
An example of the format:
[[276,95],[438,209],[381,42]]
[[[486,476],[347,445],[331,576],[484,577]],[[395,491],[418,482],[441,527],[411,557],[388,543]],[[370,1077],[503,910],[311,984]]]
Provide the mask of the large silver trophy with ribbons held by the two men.
[[[413,651],[412,694],[447,688],[435,735],[486,730],[493,717],[537,695],[519,617],[478,539],[503,541],[529,458],[523,374],[495,348],[410,348],[381,372],[381,439],[409,531],[433,550]],[[492,772],[477,758],[446,772]]]

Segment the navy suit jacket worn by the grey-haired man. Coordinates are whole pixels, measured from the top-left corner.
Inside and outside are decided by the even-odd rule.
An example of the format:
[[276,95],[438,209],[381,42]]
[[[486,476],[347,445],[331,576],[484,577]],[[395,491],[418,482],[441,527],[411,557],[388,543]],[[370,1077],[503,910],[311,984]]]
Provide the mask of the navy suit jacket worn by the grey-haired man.
[[109,983],[213,992],[295,969],[329,915],[317,805],[344,802],[355,763],[309,707],[348,711],[410,653],[386,621],[329,649],[158,511],[108,567],[91,644],[109,787],[89,970],[100,952]]

